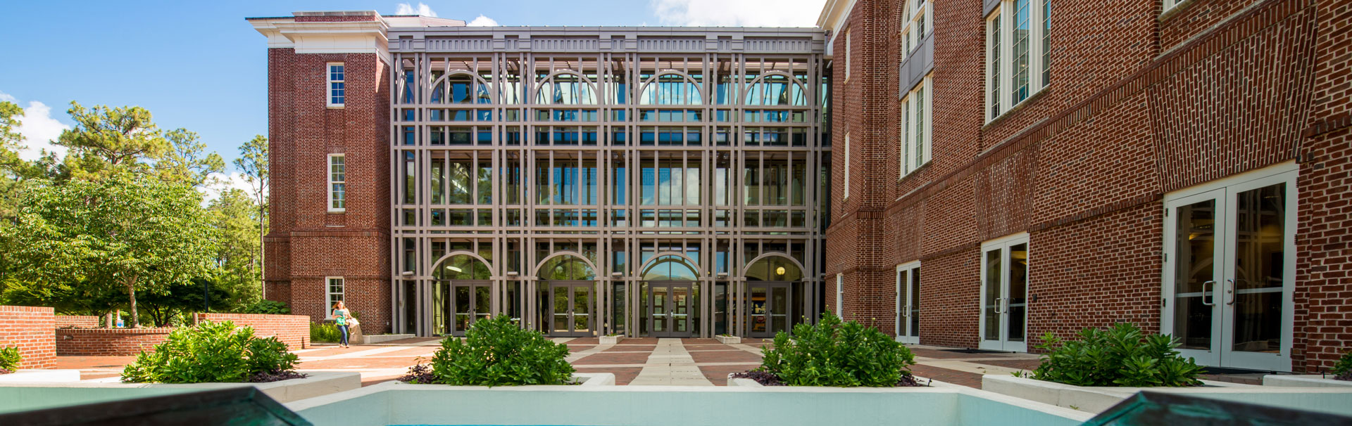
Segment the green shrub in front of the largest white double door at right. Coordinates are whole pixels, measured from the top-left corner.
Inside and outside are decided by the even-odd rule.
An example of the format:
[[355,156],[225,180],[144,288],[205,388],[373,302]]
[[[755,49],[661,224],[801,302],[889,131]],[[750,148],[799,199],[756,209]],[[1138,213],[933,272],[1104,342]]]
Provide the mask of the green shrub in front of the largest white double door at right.
[[1033,379],[1073,386],[1184,387],[1199,386],[1202,367],[1183,357],[1168,334],[1145,336],[1133,324],[1080,330],[1080,340],[1063,341],[1046,333],[1037,348],[1046,351]]

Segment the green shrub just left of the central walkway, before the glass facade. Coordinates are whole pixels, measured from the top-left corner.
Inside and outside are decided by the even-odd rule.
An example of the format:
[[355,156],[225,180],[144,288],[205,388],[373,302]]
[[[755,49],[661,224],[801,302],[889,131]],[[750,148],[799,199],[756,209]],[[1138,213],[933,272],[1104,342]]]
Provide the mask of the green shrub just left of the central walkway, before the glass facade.
[[565,384],[573,375],[568,346],[507,315],[475,321],[464,338],[446,337],[431,359],[435,383],[456,386]]

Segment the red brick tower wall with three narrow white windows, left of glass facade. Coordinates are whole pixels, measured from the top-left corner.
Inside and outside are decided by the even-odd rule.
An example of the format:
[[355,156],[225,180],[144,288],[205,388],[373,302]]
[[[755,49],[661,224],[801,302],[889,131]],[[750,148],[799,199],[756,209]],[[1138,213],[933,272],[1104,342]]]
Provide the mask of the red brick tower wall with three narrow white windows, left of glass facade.
[[[301,16],[304,18],[304,16]],[[373,20],[314,16],[297,22]],[[343,62],[345,105],[326,106],[327,62]],[[349,309],[389,330],[389,66],[376,54],[268,50],[272,226],[266,298],[327,317],[326,276],[345,279]],[[327,212],[329,154],[343,154],[346,212]],[[308,326],[308,324],[307,324]],[[307,332],[308,336],[308,332]]]

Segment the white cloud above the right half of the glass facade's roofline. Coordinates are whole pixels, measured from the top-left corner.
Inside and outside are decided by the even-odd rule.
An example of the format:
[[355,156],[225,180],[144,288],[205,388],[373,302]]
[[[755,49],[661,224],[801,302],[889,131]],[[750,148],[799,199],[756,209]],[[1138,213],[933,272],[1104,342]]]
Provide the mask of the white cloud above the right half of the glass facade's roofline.
[[813,27],[826,0],[652,0],[664,26]]

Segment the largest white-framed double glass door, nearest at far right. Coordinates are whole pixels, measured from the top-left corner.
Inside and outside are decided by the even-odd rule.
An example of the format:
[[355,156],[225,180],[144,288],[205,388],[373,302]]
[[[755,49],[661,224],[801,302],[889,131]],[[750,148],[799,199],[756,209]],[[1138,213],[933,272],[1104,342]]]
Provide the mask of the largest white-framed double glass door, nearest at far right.
[[1202,365],[1291,371],[1295,171],[1174,194],[1164,209],[1163,332]]

